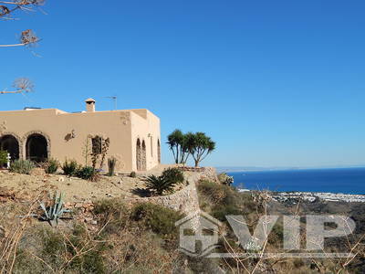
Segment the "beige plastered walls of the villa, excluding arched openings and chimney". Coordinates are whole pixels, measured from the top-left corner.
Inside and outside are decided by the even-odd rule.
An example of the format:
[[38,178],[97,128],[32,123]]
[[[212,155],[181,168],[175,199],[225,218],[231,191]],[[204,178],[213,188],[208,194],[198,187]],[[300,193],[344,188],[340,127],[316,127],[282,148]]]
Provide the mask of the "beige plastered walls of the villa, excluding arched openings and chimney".
[[[147,110],[78,113],[57,109],[0,111],[0,124],[0,137],[7,134],[16,137],[21,159],[26,159],[27,137],[38,133],[47,140],[48,158],[56,158],[60,162],[74,159],[84,164],[83,150],[88,135],[101,135],[110,138],[107,157],[115,156],[118,159],[117,172],[132,171],[136,170],[135,142],[138,135],[146,140],[147,170],[158,164],[157,139],[160,138],[160,120]],[[154,139],[153,156],[149,134]],[[104,169],[107,169],[106,163]]]

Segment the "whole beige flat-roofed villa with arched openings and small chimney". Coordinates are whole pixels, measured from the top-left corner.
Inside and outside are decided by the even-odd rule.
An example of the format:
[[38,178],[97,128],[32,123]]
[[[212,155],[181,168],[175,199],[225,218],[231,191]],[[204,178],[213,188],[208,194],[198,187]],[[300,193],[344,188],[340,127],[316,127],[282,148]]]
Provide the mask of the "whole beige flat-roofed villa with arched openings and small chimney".
[[156,115],[148,110],[96,111],[95,100],[85,102],[86,111],[76,113],[35,108],[0,111],[0,150],[12,159],[55,158],[61,163],[74,159],[85,164],[89,162],[85,152],[99,150],[94,140],[109,138],[107,158],[117,158],[118,171],[145,171],[161,163]]

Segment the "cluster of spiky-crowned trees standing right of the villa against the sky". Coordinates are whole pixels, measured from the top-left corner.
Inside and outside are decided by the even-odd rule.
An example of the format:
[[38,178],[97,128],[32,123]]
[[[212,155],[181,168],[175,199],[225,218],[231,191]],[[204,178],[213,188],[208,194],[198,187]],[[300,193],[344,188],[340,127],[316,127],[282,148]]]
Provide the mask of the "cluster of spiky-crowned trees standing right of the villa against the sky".
[[192,155],[195,167],[198,167],[199,163],[215,149],[215,142],[204,132],[183,134],[180,130],[175,130],[168,136],[167,143],[173,153],[175,163],[184,164]]

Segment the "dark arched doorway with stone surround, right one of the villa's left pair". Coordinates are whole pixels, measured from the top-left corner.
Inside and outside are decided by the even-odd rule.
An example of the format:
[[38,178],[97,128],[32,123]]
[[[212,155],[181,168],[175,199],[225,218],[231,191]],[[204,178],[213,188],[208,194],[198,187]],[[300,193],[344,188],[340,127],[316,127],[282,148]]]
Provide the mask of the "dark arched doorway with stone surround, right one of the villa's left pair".
[[48,143],[45,136],[34,133],[26,139],[26,159],[36,163],[45,162],[48,158]]

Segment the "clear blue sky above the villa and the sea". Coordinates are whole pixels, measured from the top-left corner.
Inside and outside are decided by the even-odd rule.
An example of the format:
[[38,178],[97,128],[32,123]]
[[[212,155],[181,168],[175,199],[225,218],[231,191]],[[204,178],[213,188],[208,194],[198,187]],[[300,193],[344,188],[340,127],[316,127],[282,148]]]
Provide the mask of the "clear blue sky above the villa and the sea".
[[[1,22],[0,44],[32,28],[39,47],[1,48],[0,110],[147,108],[217,142],[204,164],[365,165],[365,2],[51,1]],[[172,161],[167,146],[162,161]]]

